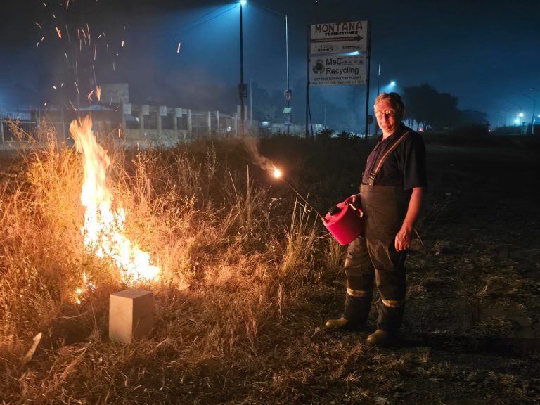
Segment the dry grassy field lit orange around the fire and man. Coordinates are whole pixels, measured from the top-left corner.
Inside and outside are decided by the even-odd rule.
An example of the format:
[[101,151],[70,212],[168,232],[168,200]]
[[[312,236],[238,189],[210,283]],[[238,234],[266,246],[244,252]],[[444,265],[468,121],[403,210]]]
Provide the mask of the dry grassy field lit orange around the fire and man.
[[[105,143],[125,231],[162,269],[135,285],[154,293],[154,327],[129,345],[108,340],[108,297],[127,283],[83,245],[80,155],[48,143],[5,158],[1,403],[538,404],[538,143],[425,139],[430,190],[390,349],[323,328],[342,310],[344,248],[262,169],[326,212],[356,192],[371,144]],[[83,273],[94,287],[75,294]]]

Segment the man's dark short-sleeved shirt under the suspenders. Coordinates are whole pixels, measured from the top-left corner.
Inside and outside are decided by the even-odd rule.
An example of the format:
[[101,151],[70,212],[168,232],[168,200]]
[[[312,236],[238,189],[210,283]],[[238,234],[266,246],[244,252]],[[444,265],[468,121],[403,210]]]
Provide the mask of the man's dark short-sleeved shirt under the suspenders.
[[416,133],[403,123],[394,131],[394,134],[383,140],[380,136],[371,151],[366,162],[366,169],[362,183],[367,184],[369,174],[375,170],[379,158],[385,154],[395,141],[406,131],[409,134],[401,140],[397,148],[392,150],[387,156],[383,166],[380,168],[373,185],[375,186],[398,186],[403,190],[410,190],[413,187],[427,187],[428,174],[425,165],[425,144],[420,134]]

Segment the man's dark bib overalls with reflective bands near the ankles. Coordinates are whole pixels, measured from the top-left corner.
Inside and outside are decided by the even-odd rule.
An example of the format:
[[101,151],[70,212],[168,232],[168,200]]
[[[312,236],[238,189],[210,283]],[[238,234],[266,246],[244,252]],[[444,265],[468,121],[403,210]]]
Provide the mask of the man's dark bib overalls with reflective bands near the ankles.
[[375,278],[380,295],[377,327],[393,332],[401,326],[406,289],[406,252],[397,252],[394,240],[405,218],[411,191],[362,184],[360,198],[365,229],[347,248],[344,315],[353,323],[366,322]]

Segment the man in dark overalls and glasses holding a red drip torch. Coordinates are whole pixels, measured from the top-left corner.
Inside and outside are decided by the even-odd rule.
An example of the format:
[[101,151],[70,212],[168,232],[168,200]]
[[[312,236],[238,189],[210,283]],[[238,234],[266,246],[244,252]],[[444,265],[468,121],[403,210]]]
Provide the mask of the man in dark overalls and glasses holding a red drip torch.
[[[377,330],[369,345],[391,345],[401,327],[405,304],[405,256],[428,186],[423,139],[401,120],[405,107],[397,93],[375,99],[375,117],[383,135],[368,156],[360,194],[354,203],[364,211],[364,233],[345,257],[345,311],[328,328],[365,330],[377,285]],[[353,203],[353,204],[354,204]]]

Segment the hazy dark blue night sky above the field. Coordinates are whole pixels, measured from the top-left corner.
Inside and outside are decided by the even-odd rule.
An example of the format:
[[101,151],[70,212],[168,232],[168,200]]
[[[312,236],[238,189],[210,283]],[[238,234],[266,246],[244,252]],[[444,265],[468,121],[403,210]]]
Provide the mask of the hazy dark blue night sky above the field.
[[[238,11],[233,2],[203,0],[4,3],[0,108],[80,105],[95,80],[128,82],[134,103],[233,113]],[[458,97],[461,109],[485,111],[495,125],[508,124],[518,110],[530,120],[529,97],[540,100],[540,91],[531,89],[540,89],[540,1],[254,0],[243,11],[245,82],[279,91],[285,89],[285,23],[279,13],[288,15],[290,87],[299,122],[307,26],[314,23],[371,20],[370,105],[378,65],[381,90],[392,79],[397,91],[428,83]],[[364,114],[366,86],[356,87],[361,101],[355,108]],[[351,86],[325,86],[314,94],[338,105],[345,116],[353,113],[351,93]],[[312,110],[321,111],[320,101],[311,100]]]

